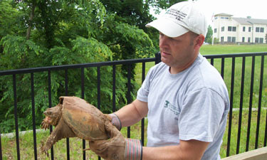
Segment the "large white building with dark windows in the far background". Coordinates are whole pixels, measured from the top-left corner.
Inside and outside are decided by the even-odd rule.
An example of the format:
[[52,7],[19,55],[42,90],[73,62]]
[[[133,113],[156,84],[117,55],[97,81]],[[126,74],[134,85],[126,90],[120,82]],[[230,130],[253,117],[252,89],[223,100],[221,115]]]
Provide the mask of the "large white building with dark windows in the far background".
[[213,37],[219,43],[266,43],[267,19],[214,15]]

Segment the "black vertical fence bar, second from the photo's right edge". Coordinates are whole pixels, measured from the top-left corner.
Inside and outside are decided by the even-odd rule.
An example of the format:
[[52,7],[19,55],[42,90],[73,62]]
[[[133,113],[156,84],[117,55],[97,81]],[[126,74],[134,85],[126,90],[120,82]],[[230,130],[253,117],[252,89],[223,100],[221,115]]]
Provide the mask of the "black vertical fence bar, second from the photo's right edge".
[[249,136],[251,134],[251,114],[252,114],[252,101],[253,101],[253,84],[254,84],[254,70],[255,70],[255,56],[252,56],[251,65],[251,91],[249,96],[249,108],[248,108],[248,130],[246,134],[246,151],[249,149]]

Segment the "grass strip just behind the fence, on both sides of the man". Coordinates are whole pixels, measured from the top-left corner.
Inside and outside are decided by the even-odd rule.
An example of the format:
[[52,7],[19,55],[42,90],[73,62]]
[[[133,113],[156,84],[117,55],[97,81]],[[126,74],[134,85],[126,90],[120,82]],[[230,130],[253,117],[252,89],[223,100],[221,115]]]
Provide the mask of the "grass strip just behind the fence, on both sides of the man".
[[[252,112],[251,118],[251,135],[249,138],[249,150],[253,150],[255,148],[256,141],[256,119],[257,119],[257,111]],[[258,148],[263,147],[264,135],[265,135],[265,122],[266,122],[266,110],[261,111],[261,126],[259,129],[259,138],[258,138]],[[246,151],[246,132],[248,126],[248,111],[244,110],[242,114],[242,123],[241,123],[241,142],[239,153],[243,153]],[[233,112],[232,119],[232,127],[231,127],[231,143],[230,143],[230,155],[236,154],[236,144],[237,144],[237,134],[239,127],[239,111]],[[132,139],[141,139],[141,129],[140,123],[137,123],[130,127],[130,133]],[[147,128],[147,119],[145,119],[145,129]],[[122,128],[122,134],[124,137],[127,137],[127,128]],[[49,159],[45,154],[41,154],[40,148],[42,142],[45,142],[47,137],[49,136],[49,132],[39,132],[36,137],[37,141],[37,152],[38,159]],[[146,137],[145,130],[145,137]],[[227,137],[228,137],[228,123],[226,127],[226,132],[223,138],[223,144],[221,145],[221,158],[226,157],[226,147],[227,147]],[[15,138],[6,138],[1,137],[2,143],[2,152],[3,159],[17,159],[16,154],[16,139]],[[83,159],[83,151],[82,151],[82,140],[78,138],[70,138],[70,159]],[[145,145],[147,144],[147,140],[145,139]],[[33,152],[33,134],[27,133],[23,136],[19,136],[19,147],[20,147],[20,156],[21,159],[34,159]],[[86,142],[85,148],[88,148],[88,142]],[[55,159],[66,159],[66,139],[62,139],[57,142],[53,146],[54,158]],[[50,151],[49,151],[50,153]],[[85,151],[87,159],[98,159],[98,156],[95,155],[92,151]]]

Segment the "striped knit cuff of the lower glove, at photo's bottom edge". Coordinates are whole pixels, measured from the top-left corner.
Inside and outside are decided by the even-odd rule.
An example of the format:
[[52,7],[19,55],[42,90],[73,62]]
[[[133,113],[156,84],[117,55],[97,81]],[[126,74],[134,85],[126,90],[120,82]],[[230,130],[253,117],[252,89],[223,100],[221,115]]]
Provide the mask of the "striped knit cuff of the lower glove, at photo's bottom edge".
[[141,140],[125,139],[125,160],[142,160]]

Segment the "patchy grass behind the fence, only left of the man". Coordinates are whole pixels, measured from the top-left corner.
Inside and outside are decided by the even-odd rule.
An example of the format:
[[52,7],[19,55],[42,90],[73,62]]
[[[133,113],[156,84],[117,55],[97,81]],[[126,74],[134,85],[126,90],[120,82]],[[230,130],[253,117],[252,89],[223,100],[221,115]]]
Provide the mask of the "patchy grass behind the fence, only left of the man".
[[[145,121],[145,126],[147,126],[147,121]],[[131,128],[131,138],[141,139],[141,128],[140,123],[133,125]],[[146,127],[145,127],[146,128]],[[127,137],[127,128],[124,127],[121,130],[124,137]],[[146,131],[145,131],[146,136]],[[37,144],[37,156],[38,159],[49,160],[51,157],[41,154],[42,143],[46,142],[49,137],[49,131],[38,132],[36,134],[36,144]],[[145,141],[145,144],[147,142]],[[70,138],[70,159],[83,159],[83,141],[79,138]],[[89,148],[88,142],[85,142],[85,148]],[[3,154],[3,160],[17,159],[16,153],[16,138],[1,137],[1,148]],[[34,148],[33,148],[33,133],[27,132],[26,134],[19,135],[19,148],[21,159],[34,159]],[[51,151],[48,151],[49,154]],[[53,145],[54,159],[67,159],[67,148],[66,139],[61,139],[55,145]],[[87,159],[97,160],[98,156],[93,153],[93,151],[85,151],[85,156]]]

